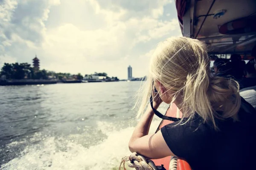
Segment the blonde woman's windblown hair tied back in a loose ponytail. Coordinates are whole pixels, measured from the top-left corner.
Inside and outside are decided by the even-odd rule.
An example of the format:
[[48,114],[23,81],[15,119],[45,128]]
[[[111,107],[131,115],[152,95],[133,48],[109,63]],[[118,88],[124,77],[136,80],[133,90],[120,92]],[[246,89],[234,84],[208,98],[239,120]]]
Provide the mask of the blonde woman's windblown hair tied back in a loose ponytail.
[[[152,58],[147,80],[137,95],[134,108],[143,113],[152,94],[152,81],[174,92],[172,102],[181,99],[183,118],[198,113],[218,129],[215,119],[233,118],[241,105],[239,84],[223,77],[210,77],[206,45],[188,37],[172,37],[161,42]],[[163,94],[162,94],[163,95]],[[189,120],[188,119],[188,120]]]

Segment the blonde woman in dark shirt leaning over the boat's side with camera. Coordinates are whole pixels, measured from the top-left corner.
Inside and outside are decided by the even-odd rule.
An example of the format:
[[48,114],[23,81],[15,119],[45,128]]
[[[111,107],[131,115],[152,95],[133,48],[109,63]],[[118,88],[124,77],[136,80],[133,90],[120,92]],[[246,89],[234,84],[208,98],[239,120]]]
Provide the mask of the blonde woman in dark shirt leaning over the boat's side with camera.
[[130,151],[151,159],[176,155],[193,170],[250,167],[255,159],[255,110],[239,96],[236,81],[209,75],[204,43],[186,37],[160,43],[135,107],[140,115],[153,95],[154,109],[174,102],[183,118],[148,135],[154,116],[148,106],[131,136]]

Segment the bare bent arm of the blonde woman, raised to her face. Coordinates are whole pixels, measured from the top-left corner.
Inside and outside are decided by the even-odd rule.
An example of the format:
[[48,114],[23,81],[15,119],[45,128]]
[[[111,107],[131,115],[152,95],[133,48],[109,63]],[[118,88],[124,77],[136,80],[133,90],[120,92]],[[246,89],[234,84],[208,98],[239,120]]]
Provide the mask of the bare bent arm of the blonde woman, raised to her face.
[[[160,104],[157,102],[153,102],[155,109],[157,109],[159,105]],[[150,159],[159,159],[174,155],[163,139],[161,130],[153,135],[148,135],[153,116],[154,112],[151,106],[148,106],[141,121],[137,124],[134,129],[134,133],[131,136],[129,141],[130,151],[140,153]]]

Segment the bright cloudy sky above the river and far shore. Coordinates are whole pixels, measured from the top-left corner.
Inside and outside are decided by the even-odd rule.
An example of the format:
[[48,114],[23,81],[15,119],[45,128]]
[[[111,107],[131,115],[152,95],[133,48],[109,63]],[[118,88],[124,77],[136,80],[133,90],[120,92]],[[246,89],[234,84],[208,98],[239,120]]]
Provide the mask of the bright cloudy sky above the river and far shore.
[[174,0],[0,0],[0,67],[28,62],[71,74],[147,74],[157,43],[180,36]]

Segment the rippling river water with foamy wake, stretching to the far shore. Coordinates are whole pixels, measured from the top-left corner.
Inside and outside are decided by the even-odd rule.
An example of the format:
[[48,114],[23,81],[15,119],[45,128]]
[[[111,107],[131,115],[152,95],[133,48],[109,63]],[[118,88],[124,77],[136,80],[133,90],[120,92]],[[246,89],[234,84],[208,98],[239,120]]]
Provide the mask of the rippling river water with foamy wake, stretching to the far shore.
[[[1,170],[117,170],[140,82],[0,87]],[[160,111],[165,113],[168,105]],[[151,133],[160,119],[154,118]]]

